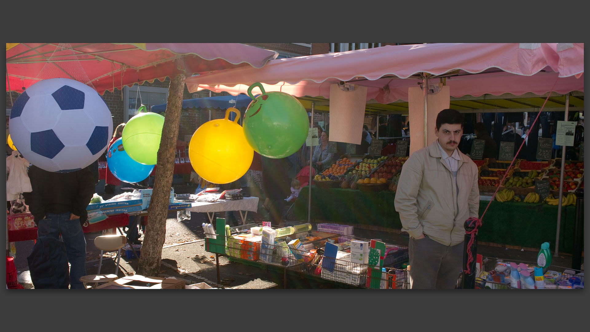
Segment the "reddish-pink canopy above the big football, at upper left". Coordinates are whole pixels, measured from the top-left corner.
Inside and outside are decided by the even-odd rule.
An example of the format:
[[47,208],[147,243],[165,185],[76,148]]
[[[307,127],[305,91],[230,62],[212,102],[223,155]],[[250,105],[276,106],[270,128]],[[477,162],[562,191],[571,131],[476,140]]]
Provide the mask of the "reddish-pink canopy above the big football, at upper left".
[[[75,55],[74,55],[75,54]],[[114,87],[236,67],[260,68],[277,53],[237,43],[21,43],[6,45],[6,91],[42,79],[88,80],[101,95]],[[83,77],[83,79],[81,79]]]

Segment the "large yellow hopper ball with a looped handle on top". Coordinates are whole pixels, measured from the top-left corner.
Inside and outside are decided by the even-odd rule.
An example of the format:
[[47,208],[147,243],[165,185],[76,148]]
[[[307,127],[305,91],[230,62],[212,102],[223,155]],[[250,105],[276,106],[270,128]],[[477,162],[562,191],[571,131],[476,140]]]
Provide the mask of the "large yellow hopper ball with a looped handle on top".
[[[237,114],[234,121],[228,119],[230,112]],[[231,183],[252,164],[254,149],[237,123],[239,118],[240,110],[228,108],[224,119],[205,122],[192,135],[188,149],[192,168],[208,182]]]

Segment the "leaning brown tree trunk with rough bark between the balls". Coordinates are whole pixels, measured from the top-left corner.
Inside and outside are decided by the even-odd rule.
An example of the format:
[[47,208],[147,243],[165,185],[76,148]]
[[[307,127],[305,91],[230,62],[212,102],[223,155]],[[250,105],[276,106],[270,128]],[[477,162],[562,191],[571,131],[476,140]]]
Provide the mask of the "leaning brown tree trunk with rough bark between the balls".
[[148,224],[139,257],[138,274],[158,276],[162,261],[162,246],[166,238],[166,217],[172,175],[174,173],[174,152],[178,138],[178,125],[182,111],[182,95],[184,92],[184,74],[171,80],[168,91],[168,106],[162,128],[162,139],[158,150],[158,167],[156,168],[152,199],[148,207]]

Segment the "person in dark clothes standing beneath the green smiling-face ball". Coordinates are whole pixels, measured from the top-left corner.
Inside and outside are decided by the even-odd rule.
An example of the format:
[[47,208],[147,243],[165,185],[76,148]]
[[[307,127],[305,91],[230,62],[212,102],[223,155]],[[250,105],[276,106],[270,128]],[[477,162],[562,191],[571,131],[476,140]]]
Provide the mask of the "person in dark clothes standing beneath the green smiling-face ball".
[[267,158],[261,156],[262,164],[262,185],[264,194],[270,201],[268,210],[270,222],[273,224],[283,223],[284,198],[291,193],[289,174],[287,174],[287,158]]

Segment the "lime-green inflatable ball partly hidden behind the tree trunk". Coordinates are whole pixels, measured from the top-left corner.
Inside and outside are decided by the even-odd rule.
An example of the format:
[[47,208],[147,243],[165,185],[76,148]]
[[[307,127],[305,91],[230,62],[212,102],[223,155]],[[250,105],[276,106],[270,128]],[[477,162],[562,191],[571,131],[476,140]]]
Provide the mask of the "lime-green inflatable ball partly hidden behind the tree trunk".
[[139,113],[123,128],[123,148],[133,160],[144,165],[158,162],[164,117],[158,113]]

